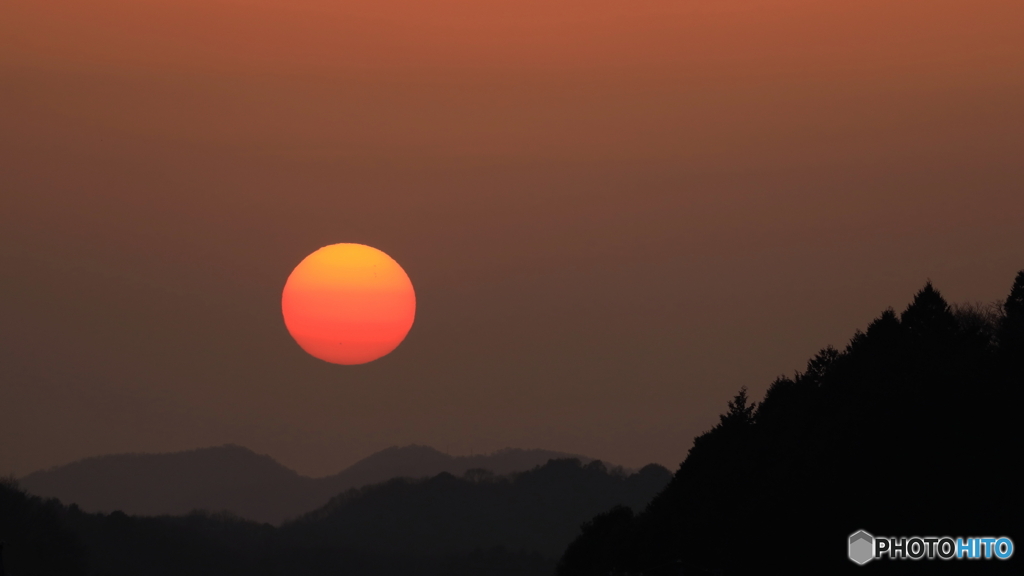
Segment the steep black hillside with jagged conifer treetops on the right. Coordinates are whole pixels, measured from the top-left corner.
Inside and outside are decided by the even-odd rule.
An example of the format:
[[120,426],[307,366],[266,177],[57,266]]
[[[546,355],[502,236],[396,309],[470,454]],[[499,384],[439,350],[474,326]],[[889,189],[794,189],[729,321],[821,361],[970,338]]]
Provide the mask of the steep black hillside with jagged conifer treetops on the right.
[[641,512],[593,519],[561,576],[1014,573],[1010,561],[847,558],[848,537],[1009,536],[1024,543],[1024,272],[999,306],[931,284],[843,351],[745,392]]

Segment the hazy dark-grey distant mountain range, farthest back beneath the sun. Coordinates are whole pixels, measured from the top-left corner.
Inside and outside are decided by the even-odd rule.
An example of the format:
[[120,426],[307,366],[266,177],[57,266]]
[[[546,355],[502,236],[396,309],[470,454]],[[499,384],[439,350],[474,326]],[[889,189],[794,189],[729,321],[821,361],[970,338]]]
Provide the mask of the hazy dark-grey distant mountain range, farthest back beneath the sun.
[[171,454],[96,456],[33,472],[18,483],[33,494],[75,503],[86,511],[160,516],[227,510],[280,524],[345,490],[392,478],[461,476],[471,468],[506,475],[566,457],[590,461],[550,450],[507,448],[486,455],[450,456],[427,446],[392,447],[337,475],[312,479],[270,456],[241,446],[220,446]]

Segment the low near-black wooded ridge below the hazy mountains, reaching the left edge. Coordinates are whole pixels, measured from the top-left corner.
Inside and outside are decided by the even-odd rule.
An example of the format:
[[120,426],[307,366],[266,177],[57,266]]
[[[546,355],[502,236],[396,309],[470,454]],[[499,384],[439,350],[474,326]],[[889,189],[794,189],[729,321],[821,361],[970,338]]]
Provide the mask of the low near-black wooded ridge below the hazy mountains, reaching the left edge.
[[0,486],[9,574],[551,574],[581,523],[642,508],[672,475],[551,460],[506,477],[396,479],[349,490],[280,528],[229,515],[130,517]]

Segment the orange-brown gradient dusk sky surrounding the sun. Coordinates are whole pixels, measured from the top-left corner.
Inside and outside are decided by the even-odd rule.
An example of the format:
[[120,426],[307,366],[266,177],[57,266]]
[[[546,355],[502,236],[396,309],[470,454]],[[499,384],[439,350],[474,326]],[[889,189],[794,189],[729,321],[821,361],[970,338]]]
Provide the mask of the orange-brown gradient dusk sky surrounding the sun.
[[[1024,269],[1020,0],[0,3],[0,474],[237,443],[678,465],[927,279]],[[281,318],[340,242],[409,337]]]

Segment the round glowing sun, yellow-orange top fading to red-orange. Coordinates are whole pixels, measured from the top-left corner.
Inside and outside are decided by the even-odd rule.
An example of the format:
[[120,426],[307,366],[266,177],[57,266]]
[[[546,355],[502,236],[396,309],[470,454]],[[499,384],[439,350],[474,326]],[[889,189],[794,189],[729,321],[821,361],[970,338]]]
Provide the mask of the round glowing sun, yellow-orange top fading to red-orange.
[[362,244],[325,246],[295,266],[281,295],[302,349],[334,364],[387,355],[413,327],[416,293],[391,256]]

